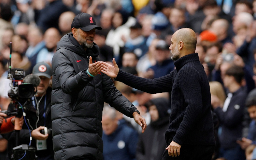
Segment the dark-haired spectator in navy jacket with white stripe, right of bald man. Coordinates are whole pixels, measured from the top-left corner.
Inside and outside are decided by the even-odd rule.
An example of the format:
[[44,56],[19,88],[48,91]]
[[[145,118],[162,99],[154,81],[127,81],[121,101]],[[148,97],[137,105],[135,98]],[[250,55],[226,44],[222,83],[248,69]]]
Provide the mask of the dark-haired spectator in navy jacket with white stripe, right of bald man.
[[242,86],[244,71],[242,67],[231,66],[223,78],[224,86],[229,90],[223,108],[214,106],[222,127],[220,140],[220,155],[228,160],[245,159],[244,150],[236,143],[242,137],[244,107],[247,92]]

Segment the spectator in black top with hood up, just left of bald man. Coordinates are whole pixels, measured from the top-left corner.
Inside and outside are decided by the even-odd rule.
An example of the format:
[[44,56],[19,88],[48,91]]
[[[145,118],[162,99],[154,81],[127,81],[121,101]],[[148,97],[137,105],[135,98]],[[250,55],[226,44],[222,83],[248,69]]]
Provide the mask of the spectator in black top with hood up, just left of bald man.
[[165,98],[148,101],[145,106],[151,115],[151,123],[147,130],[140,135],[137,144],[137,160],[160,160],[165,150],[165,131],[169,126],[170,104]]

